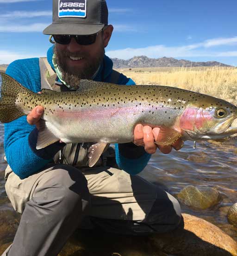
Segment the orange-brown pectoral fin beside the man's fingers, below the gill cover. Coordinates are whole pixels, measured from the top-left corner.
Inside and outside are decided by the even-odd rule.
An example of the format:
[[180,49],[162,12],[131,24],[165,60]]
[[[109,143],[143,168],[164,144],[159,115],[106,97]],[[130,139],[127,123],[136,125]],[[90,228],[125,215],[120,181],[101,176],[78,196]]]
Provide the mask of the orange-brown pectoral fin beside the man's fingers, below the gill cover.
[[157,140],[155,144],[161,145],[161,146],[168,146],[172,145],[181,137],[181,133],[178,131],[175,131],[173,129],[170,129],[165,126],[160,127],[160,131],[157,137]]

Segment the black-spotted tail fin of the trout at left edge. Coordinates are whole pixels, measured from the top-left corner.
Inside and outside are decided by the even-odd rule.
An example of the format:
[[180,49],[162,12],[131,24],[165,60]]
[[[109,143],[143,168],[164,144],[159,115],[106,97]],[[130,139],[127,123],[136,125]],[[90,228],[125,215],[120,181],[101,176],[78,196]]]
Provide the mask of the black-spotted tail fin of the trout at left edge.
[[19,93],[27,93],[23,87],[11,76],[0,72],[0,122],[9,123],[25,113],[16,105]]

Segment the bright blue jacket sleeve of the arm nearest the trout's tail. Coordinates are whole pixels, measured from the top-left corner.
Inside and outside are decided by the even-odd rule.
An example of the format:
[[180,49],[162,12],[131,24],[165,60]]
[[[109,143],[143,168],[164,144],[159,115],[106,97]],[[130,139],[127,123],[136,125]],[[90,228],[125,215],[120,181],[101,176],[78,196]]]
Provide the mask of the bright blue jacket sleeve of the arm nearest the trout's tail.
[[[33,63],[35,62],[37,61],[33,61]],[[37,81],[39,70],[35,70],[39,68],[37,65],[35,67],[33,66],[30,65],[31,72],[26,69],[25,62],[20,60],[15,61],[8,66],[6,74],[12,76],[12,78],[19,81],[23,86],[36,92],[40,89],[33,87],[33,85],[40,83],[40,81]],[[35,125],[29,125],[27,123],[26,116],[5,124],[4,130],[4,149],[7,162],[12,171],[21,179],[25,179],[44,168],[52,160],[52,154],[56,153],[53,152],[54,150],[45,148],[46,151],[51,153],[45,157],[45,150],[42,152],[42,150],[36,150],[34,148],[37,141],[37,137],[35,137],[37,129]]]

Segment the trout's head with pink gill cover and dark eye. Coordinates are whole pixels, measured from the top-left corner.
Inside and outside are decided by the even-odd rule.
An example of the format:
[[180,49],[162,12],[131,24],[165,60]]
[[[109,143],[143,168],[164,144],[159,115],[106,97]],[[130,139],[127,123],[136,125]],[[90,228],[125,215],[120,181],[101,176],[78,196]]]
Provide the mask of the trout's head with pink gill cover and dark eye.
[[192,140],[219,139],[237,133],[237,107],[211,96],[190,103],[181,114],[182,133]]

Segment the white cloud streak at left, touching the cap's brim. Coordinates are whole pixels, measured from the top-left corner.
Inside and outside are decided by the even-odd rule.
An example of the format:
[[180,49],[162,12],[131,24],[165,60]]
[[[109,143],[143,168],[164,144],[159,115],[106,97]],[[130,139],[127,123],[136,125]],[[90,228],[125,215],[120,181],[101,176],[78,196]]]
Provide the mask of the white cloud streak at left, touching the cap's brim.
[[31,25],[0,25],[0,32],[42,32],[49,24],[34,23]]

